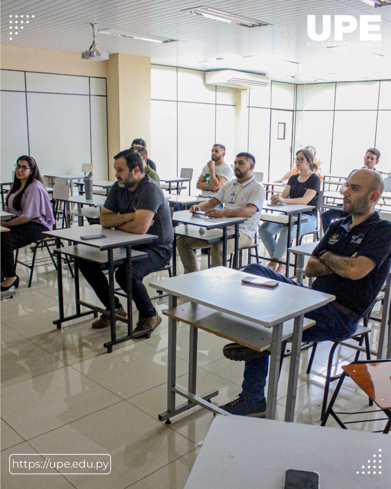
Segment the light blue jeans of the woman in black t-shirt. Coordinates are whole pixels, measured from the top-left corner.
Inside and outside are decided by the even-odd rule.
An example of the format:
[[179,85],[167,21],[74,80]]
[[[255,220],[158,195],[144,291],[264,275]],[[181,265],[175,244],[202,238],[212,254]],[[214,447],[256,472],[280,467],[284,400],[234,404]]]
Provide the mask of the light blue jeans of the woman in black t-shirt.
[[[302,214],[303,215],[303,214]],[[310,214],[304,214],[308,221],[300,224],[300,236],[310,231],[315,231],[317,220]],[[259,237],[265,245],[269,255],[276,260],[281,260],[287,251],[288,226],[278,223],[264,222],[259,228]],[[291,228],[291,238],[296,237],[297,226]],[[276,234],[280,234],[278,241],[274,239]],[[297,243],[299,244],[299,243]]]

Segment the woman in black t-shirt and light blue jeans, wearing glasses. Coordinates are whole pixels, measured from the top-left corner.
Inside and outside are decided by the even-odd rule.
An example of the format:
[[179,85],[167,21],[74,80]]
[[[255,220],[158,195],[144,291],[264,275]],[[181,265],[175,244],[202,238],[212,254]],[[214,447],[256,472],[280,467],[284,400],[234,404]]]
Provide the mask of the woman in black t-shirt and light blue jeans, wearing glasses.
[[[293,175],[289,178],[286,187],[282,194],[274,194],[271,196],[272,204],[301,204],[313,205],[314,209],[303,212],[307,221],[300,223],[300,236],[311,231],[315,231],[318,219],[316,204],[320,191],[320,178],[316,175],[316,164],[311,151],[300,149],[296,153],[296,166],[299,170],[298,175]],[[296,237],[297,227],[292,226],[292,239]],[[276,234],[280,234],[278,241],[274,239]],[[271,261],[267,265],[278,274],[284,274],[286,266],[281,261],[287,251],[288,227],[284,224],[264,222],[259,228],[259,237],[266,247]]]

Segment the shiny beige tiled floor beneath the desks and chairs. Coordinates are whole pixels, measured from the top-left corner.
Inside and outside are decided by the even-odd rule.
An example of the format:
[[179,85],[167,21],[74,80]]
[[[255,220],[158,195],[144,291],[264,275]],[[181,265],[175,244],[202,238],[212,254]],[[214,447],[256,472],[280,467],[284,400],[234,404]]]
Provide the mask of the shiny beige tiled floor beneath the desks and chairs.
[[[263,251],[263,250],[262,250]],[[26,249],[20,253],[23,259]],[[199,257],[206,267],[206,257]],[[167,426],[157,415],[166,409],[167,318],[148,340],[128,341],[107,354],[107,330],[92,330],[92,316],[66,323],[57,330],[57,274],[51,266],[37,267],[33,285],[26,287],[27,269],[18,266],[20,286],[12,299],[1,302],[2,341],[2,485],[20,488],[21,479],[9,474],[11,453],[109,453],[112,470],[106,476],[31,475],[23,486],[45,489],[180,489],[200,451],[213,415],[194,408]],[[182,273],[179,266],[179,273]],[[166,276],[153,274],[153,278]],[[152,276],[144,283],[150,282]],[[99,304],[91,287],[80,279],[81,296]],[[150,294],[156,292],[150,290]],[[75,310],[73,280],[64,268],[66,314]],[[161,312],[167,299],[156,302]],[[124,304],[125,305],[125,304]],[[136,319],[136,312],[134,311]],[[378,324],[373,323],[375,345]],[[117,328],[126,331],[123,323]],[[187,384],[189,327],[179,324],[177,375]],[[198,389],[219,390],[214,403],[222,404],[241,391],[244,365],[222,355],[227,341],[199,333]],[[301,355],[295,422],[319,424],[324,373],[330,343],[318,345],[310,374],[310,351]],[[354,357],[354,350],[339,347],[334,369]],[[289,359],[283,364],[278,388],[277,418],[284,419]],[[333,391],[335,385],[331,387]],[[178,403],[182,402],[178,396]],[[347,411],[366,409],[368,398],[346,381],[338,398]],[[260,420],[262,423],[262,420]],[[380,429],[381,423],[357,423],[352,429]],[[332,426],[335,423],[329,421]]]

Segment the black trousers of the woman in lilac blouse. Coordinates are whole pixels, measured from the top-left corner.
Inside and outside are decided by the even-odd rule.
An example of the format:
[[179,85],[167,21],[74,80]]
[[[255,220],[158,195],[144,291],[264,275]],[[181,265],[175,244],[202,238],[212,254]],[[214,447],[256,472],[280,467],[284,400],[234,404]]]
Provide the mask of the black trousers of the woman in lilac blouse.
[[30,221],[29,223],[12,226],[9,231],[2,233],[2,282],[8,277],[16,276],[14,250],[45,238],[46,236],[42,235],[42,231],[47,230],[47,227],[43,224]]

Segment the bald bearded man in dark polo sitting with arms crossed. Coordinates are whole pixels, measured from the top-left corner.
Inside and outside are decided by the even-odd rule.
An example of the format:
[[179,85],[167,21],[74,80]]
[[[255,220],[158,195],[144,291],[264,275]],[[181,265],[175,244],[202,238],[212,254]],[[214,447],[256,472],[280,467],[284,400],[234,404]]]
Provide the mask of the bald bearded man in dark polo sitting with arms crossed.
[[[356,170],[350,175],[343,204],[349,215],[330,224],[305,268],[306,277],[315,277],[311,287],[335,295],[336,300],[304,314],[316,324],[303,331],[303,342],[347,339],[371,310],[391,266],[391,223],[381,220],[375,211],[383,189],[383,179],[373,170]],[[249,265],[244,272],[304,287],[263,265]],[[226,345],[223,352],[230,360],[244,360],[245,368],[242,392],[221,409],[239,416],[264,417],[268,353],[236,343]]]

